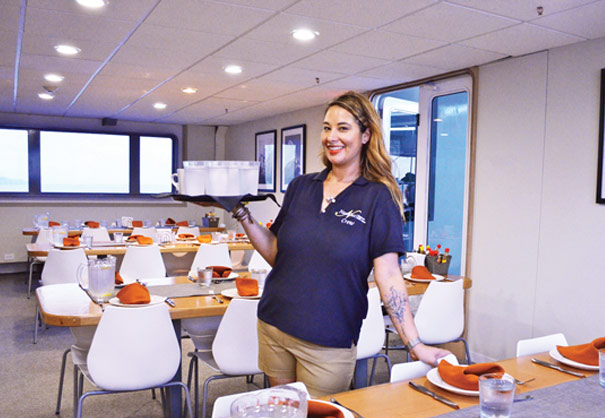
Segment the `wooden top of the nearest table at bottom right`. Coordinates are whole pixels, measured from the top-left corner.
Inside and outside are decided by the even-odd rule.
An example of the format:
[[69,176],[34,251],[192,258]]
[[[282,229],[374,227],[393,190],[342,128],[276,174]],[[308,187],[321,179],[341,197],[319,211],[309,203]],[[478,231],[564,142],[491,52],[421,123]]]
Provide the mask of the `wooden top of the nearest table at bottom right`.
[[[518,386],[519,393],[579,379],[578,377],[534,364],[531,362],[532,357],[551,363],[557,363],[550,358],[548,353],[534,354],[497,362],[504,367],[507,373],[513,375],[517,379],[525,380],[532,377],[536,378],[533,382]],[[560,365],[569,370],[579,371],[586,376],[592,376],[597,373],[596,371],[580,370],[563,364]],[[426,377],[412,379],[412,381],[457,403],[460,408],[467,408],[479,404],[478,396],[463,396],[448,392],[430,383]],[[363,415],[364,418],[422,418],[433,417],[454,410],[449,406],[434,400],[430,396],[412,389],[408,385],[408,381],[370,386],[363,389],[325,396],[321,399],[329,401],[330,397],[334,397],[347,407],[356,410]]]

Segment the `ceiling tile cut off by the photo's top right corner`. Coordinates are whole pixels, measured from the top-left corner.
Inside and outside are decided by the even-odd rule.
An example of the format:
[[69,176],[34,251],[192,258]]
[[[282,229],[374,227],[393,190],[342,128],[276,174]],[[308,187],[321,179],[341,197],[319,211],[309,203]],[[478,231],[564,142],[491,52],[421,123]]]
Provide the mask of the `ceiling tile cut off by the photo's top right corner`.
[[588,39],[605,36],[605,1],[536,19],[534,24]]

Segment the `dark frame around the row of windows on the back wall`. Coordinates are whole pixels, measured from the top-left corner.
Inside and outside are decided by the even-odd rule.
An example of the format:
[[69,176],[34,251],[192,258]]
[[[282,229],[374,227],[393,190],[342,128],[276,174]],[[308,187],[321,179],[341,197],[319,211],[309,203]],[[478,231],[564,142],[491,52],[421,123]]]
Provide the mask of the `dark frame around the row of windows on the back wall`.
[[[172,167],[176,172],[178,164],[178,137],[171,133],[133,133],[122,131],[93,131],[81,129],[57,129],[57,128],[26,128],[22,126],[3,126],[0,129],[14,129],[27,131],[28,137],[28,173],[29,192],[3,192],[0,191],[0,200],[151,200],[155,198],[154,193],[140,193],[140,139],[141,137],[169,138],[172,141]],[[128,193],[54,193],[41,191],[40,172],[40,132],[66,132],[99,135],[124,135],[129,138],[129,192]],[[174,193],[174,187],[171,189]]]

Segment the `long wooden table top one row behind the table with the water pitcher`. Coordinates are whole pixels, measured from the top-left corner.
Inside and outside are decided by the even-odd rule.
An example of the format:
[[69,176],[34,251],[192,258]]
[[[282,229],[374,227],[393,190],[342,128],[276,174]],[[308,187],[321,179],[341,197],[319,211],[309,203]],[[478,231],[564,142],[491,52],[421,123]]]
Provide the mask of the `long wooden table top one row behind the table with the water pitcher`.
[[[136,244],[132,244],[136,245]],[[236,250],[253,250],[254,247],[249,241],[241,242],[228,242],[229,251]],[[195,253],[200,247],[199,244],[187,244],[187,243],[164,243],[159,244],[160,252],[162,253]],[[29,243],[25,244],[27,249],[28,257],[46,257],[48,252],[53,248],[51,244],[47,243]],[[125,244],[118,246],[99,246],[95,247],[93,244],[92,248],[85,248],[86,255],[124,255],[126,254],[127,246]],[[69,250],[66,250],[69,251]]]

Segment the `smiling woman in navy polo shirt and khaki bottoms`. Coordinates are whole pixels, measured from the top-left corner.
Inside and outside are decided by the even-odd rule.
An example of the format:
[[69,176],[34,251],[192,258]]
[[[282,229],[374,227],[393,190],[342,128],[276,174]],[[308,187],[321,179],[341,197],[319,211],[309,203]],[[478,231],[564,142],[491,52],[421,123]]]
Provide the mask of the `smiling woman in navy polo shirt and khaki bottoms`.
[[372,103],[355,92],[330,102],[321,142],[326,169],[288,185],[270,229],[234,210],[273,265],[258,309],[259,367],[271,385],[302,381],[313,396],[349,387],[372,268],[412,355],[436,364],[449,354],[418,339],[398,264],[401,192]]

